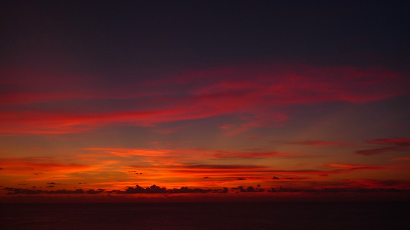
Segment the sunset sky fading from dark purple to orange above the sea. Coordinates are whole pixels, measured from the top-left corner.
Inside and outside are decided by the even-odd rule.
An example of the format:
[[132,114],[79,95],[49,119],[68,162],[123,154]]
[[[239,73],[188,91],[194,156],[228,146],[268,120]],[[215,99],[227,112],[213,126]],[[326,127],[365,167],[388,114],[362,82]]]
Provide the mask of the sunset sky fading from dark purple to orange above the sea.
[[0,196],[408,193],[408,7],[2,1]]

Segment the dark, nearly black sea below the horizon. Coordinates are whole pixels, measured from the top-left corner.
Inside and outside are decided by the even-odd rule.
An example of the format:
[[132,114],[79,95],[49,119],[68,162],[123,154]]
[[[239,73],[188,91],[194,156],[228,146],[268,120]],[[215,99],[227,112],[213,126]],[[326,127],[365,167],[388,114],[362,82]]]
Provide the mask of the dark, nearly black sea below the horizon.
[[0,229],[410,229],[410,203],[0,204]]

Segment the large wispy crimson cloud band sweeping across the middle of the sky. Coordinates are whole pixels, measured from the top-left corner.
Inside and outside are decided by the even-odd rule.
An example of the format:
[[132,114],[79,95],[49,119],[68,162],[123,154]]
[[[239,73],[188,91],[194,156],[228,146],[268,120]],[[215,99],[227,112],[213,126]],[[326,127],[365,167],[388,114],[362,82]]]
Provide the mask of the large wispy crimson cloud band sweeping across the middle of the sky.
[[[8,88],[0,93],[6,99],[0,102],[0,133],[7,135],[77,133],[108,125],[151,127],[167,133],[177,130],[157,126],[232,115],[240,122],[222,130],[231,136],[286,122],[289,114],[272,113],[277,106],[364,103],[408,93],[402,83],[406,76],[374,67],[237,65],[178,70],[161,82],[98,85],[92,80],[95,77],[81,74],[51,77],[49,73],[0,71],[7,73],[0,80]],[[33,79],[45,79],[40,82],[53,87]],[[16,109],[15,105],[25,106]]]

